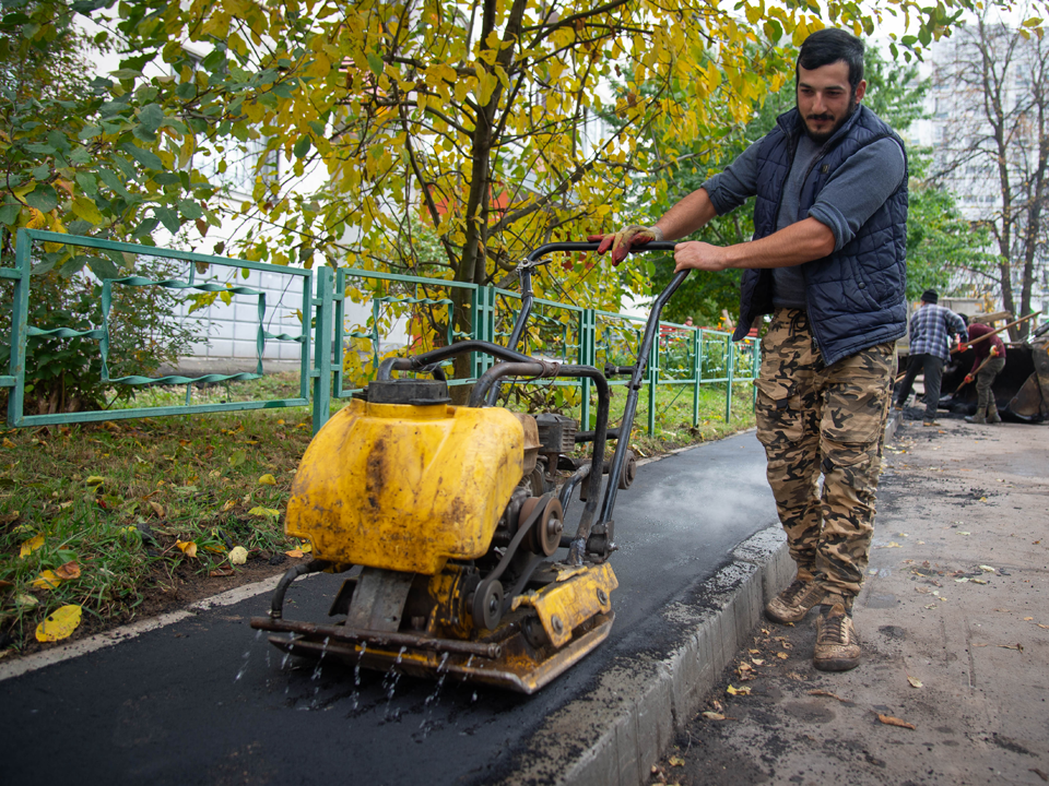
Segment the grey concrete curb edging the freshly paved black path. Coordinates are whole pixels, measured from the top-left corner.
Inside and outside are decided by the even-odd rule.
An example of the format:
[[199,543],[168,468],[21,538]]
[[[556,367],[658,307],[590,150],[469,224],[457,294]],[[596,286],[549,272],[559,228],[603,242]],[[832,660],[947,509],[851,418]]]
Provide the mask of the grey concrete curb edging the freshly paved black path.
[[[663,611],[677,643],[661,659],[624,658],[590,694],[547,717],[505,784],[635,786],[699,710],[721,671],[794,575],[777,524],[743,541],[732,562]],[[564,769],[563,762],[573,764]]]

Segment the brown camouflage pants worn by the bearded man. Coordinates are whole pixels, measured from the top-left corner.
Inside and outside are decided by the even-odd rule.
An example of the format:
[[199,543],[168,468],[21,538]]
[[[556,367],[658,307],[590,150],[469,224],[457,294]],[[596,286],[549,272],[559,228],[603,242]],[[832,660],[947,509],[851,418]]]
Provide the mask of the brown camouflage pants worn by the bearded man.
[[757,438],[790,555],[827,593],[851,602],[874,531],[894,343],[827,367],[805,312],[777,309],[762,353]]

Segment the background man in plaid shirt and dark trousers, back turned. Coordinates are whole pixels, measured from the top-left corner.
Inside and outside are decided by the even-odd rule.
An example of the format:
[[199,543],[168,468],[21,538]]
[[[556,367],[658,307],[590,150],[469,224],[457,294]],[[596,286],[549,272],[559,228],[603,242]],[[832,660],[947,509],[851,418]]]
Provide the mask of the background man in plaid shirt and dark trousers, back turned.
[[951,336],[965,335],[965,322],[954,311],[936,303],[940,295],[935,289],[921,294],[918,309],[910,318],[910,360],[907,374],[896,394],[896,408],[903,409],[910,396],[910,388],[919,372],[926,381],[926,416],[922,426],[938,426],[936,408],[940,406],[940,382],[943,365],[951,359]]

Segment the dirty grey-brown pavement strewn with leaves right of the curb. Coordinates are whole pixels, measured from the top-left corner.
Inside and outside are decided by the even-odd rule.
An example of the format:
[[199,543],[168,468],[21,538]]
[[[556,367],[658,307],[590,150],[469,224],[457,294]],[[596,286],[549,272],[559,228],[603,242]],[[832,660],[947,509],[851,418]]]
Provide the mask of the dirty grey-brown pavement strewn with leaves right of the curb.
[[763,623],[652,783],[1049,783],[1047,469],[1049,426],[905,418],[857,602],[860,667],[813,669],[816,611]]

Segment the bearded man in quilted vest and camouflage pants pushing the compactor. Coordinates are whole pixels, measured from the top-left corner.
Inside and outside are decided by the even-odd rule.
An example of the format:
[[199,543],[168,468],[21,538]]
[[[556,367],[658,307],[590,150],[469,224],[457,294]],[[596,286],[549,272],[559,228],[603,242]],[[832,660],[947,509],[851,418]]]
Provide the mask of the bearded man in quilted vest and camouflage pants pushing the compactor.
[[899,138],[860,104],[858,38],[809,36],[795,88],[795,108],[723,172],[653,227],[603,236],[599,250],[618,262],[632,247],[685,237],[757,196],[753,241],[683,242],[674,259],[677,270],[744,269],[735,341],[773,314],[757,437],[798,574],[765,611],[797,622],[818,604],[813,664],[845,670],[861,655],[852,602],[873,532],[894,345],[906,330],[907,160]]

